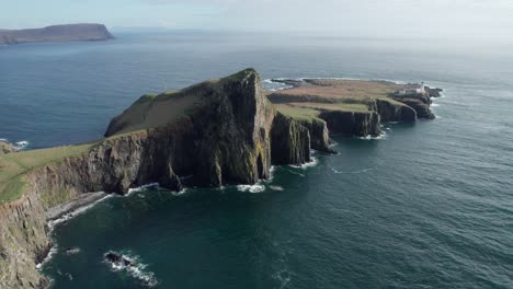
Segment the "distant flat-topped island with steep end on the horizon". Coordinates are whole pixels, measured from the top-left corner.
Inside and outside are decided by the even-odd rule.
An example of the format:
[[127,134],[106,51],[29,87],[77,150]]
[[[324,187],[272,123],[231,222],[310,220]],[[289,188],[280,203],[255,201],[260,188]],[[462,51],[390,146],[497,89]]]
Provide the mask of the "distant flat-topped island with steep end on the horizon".
[[114,36],[103,24],[64,24],[43,28],[0,30],[0,45],[44,42],[96,42]]

